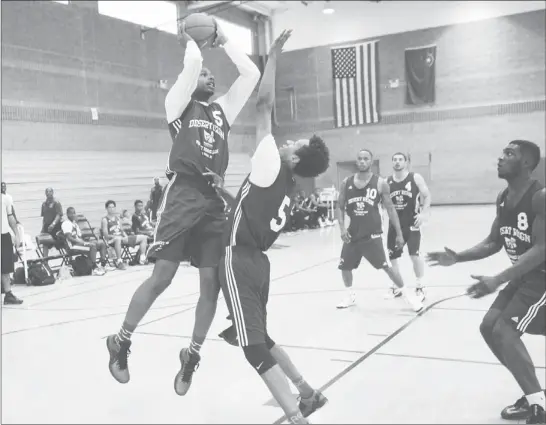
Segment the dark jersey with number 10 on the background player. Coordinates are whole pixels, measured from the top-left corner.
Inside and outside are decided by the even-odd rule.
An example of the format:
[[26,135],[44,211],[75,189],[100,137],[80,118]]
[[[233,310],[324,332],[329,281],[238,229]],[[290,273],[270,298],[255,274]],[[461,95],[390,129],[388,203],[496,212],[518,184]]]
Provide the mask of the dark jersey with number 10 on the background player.
[[379,176],[373,174],[368,184],[359,189],[355,186],[355,176],[347,179],[345,210],[351,219],[348,230],[352,241],[383,233],[378,182]]

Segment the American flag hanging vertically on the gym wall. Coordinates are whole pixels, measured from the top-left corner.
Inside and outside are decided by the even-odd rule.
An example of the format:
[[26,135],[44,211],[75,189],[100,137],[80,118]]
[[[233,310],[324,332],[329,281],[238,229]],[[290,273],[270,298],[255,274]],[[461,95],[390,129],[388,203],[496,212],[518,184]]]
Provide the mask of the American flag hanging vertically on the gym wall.
[[336,127],[379,122],[378,41],[332,49]]

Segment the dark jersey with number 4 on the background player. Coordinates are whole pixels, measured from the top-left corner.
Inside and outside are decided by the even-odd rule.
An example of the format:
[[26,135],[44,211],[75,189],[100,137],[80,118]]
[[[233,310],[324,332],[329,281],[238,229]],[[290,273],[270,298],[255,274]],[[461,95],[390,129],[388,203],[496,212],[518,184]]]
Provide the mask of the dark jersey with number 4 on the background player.
[[409,173],[400,182],[394,180],[393,176],[387,178],[391,188],[391,199],[394,208],[398,213],[401,227],[411,227],[415,222],[415,215],[421,210],[419,188],[415,184],[413,173]]

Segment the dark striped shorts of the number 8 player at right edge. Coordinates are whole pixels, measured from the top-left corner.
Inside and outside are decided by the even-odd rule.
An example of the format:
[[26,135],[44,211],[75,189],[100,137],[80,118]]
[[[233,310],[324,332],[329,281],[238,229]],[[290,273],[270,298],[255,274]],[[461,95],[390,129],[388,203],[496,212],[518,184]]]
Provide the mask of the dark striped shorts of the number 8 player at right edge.
[[537,273],[535,282],[510,282],[502,289],[490,310],[499,310],[501,317],[513,323],[521,333],[546,335],[546,283],[544,273]]

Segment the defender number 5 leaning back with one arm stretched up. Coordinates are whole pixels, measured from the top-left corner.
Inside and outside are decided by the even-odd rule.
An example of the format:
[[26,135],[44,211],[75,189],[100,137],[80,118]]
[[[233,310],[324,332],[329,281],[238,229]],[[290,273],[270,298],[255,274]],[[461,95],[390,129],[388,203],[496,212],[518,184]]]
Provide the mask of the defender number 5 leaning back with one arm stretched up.
[[[220,282],[238,343],[291,423],[305,419],[326,403],[326,398],[302,378],[285,351],[267,333],[266,305],[270,267],[265,255],[286,223],[294,174],[316,177],[329,164],[328,148],[317,136],[277,148],[271,135],[271,111],[275,100],[277,59],[290,31],[273,43],[256,105],[256,140],[252,171],[243,182],[228,220],[225,256],[220,264]],[[233,344],[233,341],[228,341]],[[286,377],[301,394],[298,406]]]

